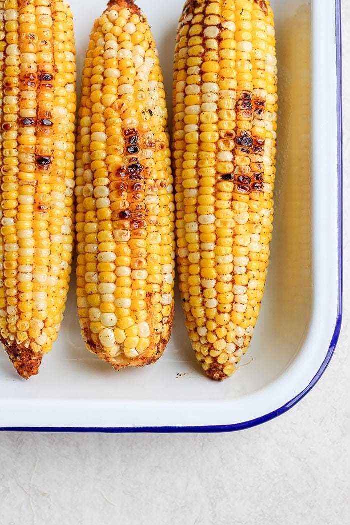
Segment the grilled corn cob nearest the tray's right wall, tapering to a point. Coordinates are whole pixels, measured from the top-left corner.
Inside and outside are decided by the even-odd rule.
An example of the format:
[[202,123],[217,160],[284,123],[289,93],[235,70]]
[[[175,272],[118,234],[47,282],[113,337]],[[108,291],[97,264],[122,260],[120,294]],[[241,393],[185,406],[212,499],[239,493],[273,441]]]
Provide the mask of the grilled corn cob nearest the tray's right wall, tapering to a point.
[[193,348],[215,380],[235,372],[260,310],[276,129],[268,0],[189,0],[174,72],[178,268]]

